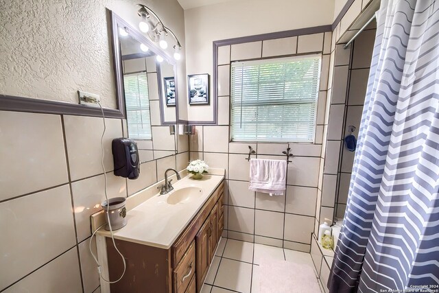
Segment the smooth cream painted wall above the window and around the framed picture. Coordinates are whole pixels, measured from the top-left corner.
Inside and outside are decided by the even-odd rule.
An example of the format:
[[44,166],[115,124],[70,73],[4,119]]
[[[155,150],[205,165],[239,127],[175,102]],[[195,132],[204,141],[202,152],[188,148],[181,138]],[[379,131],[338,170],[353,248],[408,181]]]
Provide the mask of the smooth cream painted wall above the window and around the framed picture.
[[[333,1],[242,0],[185,10],[187,74],[212,75],[214,40],[329,25]],[[212,89],[211,89],[212,94]],[[212,106],[189,106],[192,121],[212,117]]]

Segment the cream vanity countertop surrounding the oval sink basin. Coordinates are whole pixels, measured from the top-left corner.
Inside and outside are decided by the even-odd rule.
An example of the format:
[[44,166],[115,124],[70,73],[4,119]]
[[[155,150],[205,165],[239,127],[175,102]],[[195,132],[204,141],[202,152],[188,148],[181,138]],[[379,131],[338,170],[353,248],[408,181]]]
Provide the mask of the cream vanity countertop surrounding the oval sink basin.
[[[224,170],[224,169],[223,169]],[[210,170],[209,170],[210,171]],[[219,172],[220,173],[220,172]],[[221,173],[220,173],[221,174]],[[203,204],[208,200],[219,183],[224,179],[223,175],[206,174],[201,180],[191,179],[191,175],[185,176],[181,180],[174,183],[174,191],[187,186],[195,186],[203,189],[203,194],[199,198],[193,198],[191,202],[168,204],[167,198],[174,192],[159,196],[158,193],[144,202],[133,204],[131,202],[141,198],[142,192],[152,192],[157,190],[156,185],[148,187],[138,194],[127,198],[127,214],[128,224],[117,231],[113,231],[115,239],[136,242],[148,246],[169,249],[176,241],[180,233],[185,230],[186,226],[191,222],[192,218],[198,213]],[[175,181],[176,179],[174,179]],[[156,191],[154,191],[156,193]],[[131,208],[131,207],[132,208]],[[101,217],[104,215],[100,214]],[[99,216],[99,215],[98,215]],[[98,235],[110,237],[110,232],[101,229]]]

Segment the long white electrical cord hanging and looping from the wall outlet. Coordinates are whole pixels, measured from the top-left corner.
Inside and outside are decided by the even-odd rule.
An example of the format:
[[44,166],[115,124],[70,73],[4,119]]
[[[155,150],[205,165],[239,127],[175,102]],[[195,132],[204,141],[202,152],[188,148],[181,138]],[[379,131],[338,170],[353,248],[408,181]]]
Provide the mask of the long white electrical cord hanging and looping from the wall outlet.
[[123,257],[123,255],[122,255],[122,253],[119,251],[119,249],[117,249],[117,246],[116,246],[116,243],[115,243],[115,235],[113,235],[113,233],[112,233],[111,222],[110,222],[110,214],[108,213],[108,209],[110,209],[110,204],[109,204],[109,202],[108,202],[108,195],[107,195],[107,174],[106,174],[106,170],[105,170],[105,166],[104,166],[105,150],[104,150],[104,143],[103,143],[103,141],[104,141],[104,134],[105,134],[105,131],[106,131],[105,115],[104,115],[104,109],[102,108],[101,103],[100,103],[99,101],[97,101],[97,100],[96,100],[95,102],[97,102],[97,104],[99,104],[99,106],[101,107],[102,118],[104,119],[104,131],[102,132],[102,136],[101,136],[101,150],[102,150],[101,164],[102,164],[102,169],[104,169],[104,178],[105,178],[105,199],[106,199],[106,201],[107,201],[107,213],[106,213],[106,214],[107,214],[108,227],[110,228],[112,244],[115,246],[115,248],[116,248],[116,250],[117,250],[117,253],[119,253],[119,255],[121,256],[121,259],[122,259],[122,261],[123,261],[123,272],[122,272],[121,277],[120,277],[119,279],[117,279],[117,281],[106,280],[104,277],[102,277],[102,267],[101,267],[101,265],[99,264],[99,261],[97,260],[97,257],[96,257],[95,254],[93,253],[93,250],[91,250],[91,242],[92,242],[92,240],[93,240],[93,237],[95,236],[95,234],[97,233],[97,231],[99,231],[99,229],[102,228],[102,227],[103,227],[105,224],[107,224],[107,223],[102,224],[101,226],[99,226],[99,227],[93,232],[93,234],[91,235],[91,238],[90,238],[90,242],[88,242],[88,249],[90,250],[91,256],[93,257],[93,259],[95,259],[95,262],[97,263],[97,270],[98,270],[98,272],[99,272],[99,277],[100,277],[103,281],[105,281],[106,283],[113,284],[113,283],[117,283],[117,282],[119,282],[119,281],[123,278],[123,275],[125,274],[125,271],[126,271],[126,261],[125,261],[125,257]]

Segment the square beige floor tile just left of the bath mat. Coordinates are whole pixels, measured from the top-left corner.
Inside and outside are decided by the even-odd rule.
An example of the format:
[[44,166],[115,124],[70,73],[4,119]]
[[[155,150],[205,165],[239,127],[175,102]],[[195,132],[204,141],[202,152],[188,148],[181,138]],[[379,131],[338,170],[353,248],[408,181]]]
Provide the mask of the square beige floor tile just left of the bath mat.
[[250,263],[222,259],[213,285],[237,292],[250,293],[251,279],[252,265]]

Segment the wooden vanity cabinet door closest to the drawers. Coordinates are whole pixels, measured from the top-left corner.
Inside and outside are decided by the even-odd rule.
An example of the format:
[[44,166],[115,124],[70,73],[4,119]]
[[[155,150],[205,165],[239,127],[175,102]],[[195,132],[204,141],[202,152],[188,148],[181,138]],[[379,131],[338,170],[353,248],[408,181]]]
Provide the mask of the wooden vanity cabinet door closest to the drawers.
[[210,243],[209,238],[211,236],[211,221],[207,218],[206,222],[200,228],[197,235],[195,236],[195,246],[197,250],[197,288],[198,292],[201,291],[204,279],[206,278],[207,271],[209,270],[209,265],[211,264],[210,258]]

